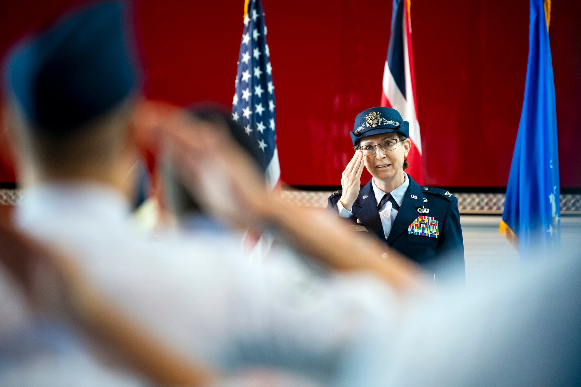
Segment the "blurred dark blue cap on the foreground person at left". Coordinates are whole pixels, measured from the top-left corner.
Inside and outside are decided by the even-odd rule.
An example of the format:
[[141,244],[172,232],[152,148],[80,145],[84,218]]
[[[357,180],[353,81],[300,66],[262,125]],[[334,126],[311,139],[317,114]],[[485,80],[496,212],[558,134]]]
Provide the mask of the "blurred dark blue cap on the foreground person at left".
[[124,8],[103,2],[76,10],[15,45],[6,94],[35,131],[70,134],[137,88]]

